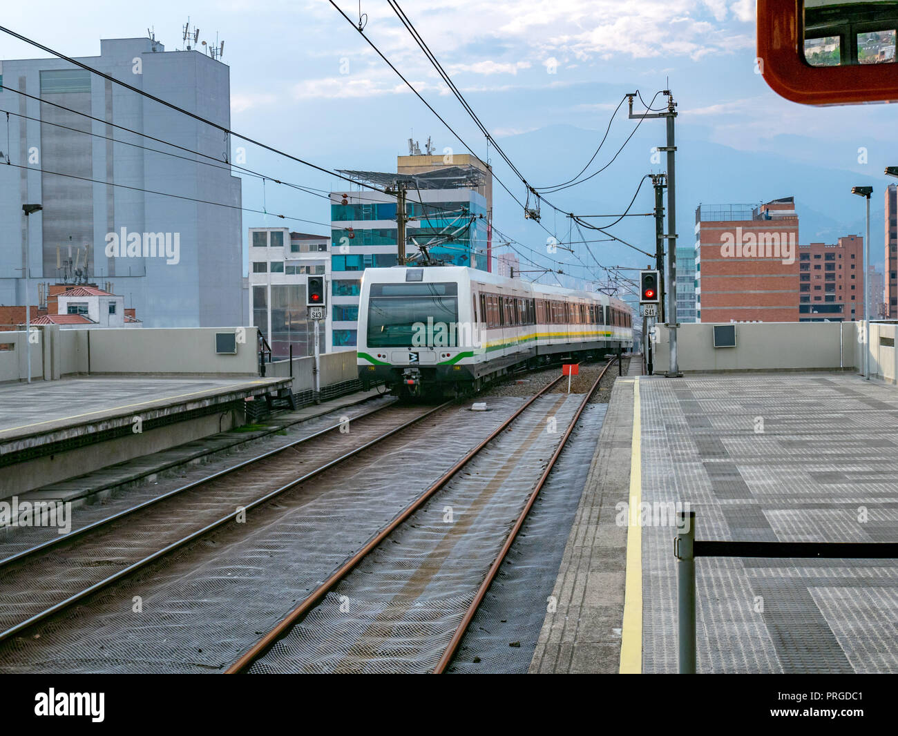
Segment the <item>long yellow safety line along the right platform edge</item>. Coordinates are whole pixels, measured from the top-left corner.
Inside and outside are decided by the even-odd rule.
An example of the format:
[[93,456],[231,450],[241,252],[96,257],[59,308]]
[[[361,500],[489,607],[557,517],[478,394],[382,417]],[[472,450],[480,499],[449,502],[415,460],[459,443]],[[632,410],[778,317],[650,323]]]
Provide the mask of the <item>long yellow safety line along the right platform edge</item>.
[[641,415],[639,381],[633,381],[633,439],[629,460],[629,507],[627,526],[627,577],[624,588],[621,630],[621,674],[642,673],[642,502]]

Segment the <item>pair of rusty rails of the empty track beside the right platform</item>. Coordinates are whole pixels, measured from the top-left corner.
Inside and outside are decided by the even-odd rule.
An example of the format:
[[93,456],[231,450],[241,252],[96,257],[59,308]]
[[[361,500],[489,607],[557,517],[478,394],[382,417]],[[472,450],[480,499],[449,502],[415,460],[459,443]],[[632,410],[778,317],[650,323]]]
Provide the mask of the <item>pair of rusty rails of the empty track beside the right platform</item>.
[[[489,566],[489,571],[487,572],[485,577],[482,578],[480,585],[473,593],[471,601],[463,610],[461,618],[454,624],[453,632],[451,637],[449,638],[448,644],[445,646],[443,653],[439,658],[439,661],[436,662],[436,666],[434,666],[430,671],[436,673],[443,672],[445,671],[449,663],[452,662],[453,654],[462,641],[465,629],[471,623],[471,618],[473,618],[474,613],[477,611],[480,605],[480,601],[483,600],[483,596],[486,594],[486,591],[488,591],[489,585],[495,579],[496,574],[506,557],[508,549],[511,548],[511,545],[514,542],[518,531],[521,529],[521,526],[524,523],[524,519],[533,507],[533,503],[539,495],[542,486],[545,484],[546,479],[549,478],[551,469],[554,467],[556,461],[558,460],[559,455],[564,449],[566,442],[568,442],[568,438],[575,425],[577,424],[578,418],[584,411],[587,403],[589,402],[589,399],[593,396],[594,391],[599,387],[605,372],[608,371],[612,363],[613,361],[609,361],[603,366],[601,372],[599,372],[591,388],[585,393],[585,395],[583,395],[583,398],[579,402],[576,411],[568,422],[567,430],[561,435],[559,442],[557,443],[554,451],[550,456],[548,463],[546,464],[544,469],[542,469],[541,475],[537,479],[535,485],[533,485],[529,495],[527,495],[523,508],[518,513],[514,524],[511,526],[511,529],[507,532],[504,543],[498,549],[493,563]],[[307,597],[305,597],[304,600],[299,603],[299,605],[292,609],[286,615],[286,617],[282,618],[276,626],[271,627],[269,631],[256,642],[256,644],[254,644],[249,650],[243,653],[241,657],[233,662],[233,664],[228,667],[226,672],[234,674],[248,671],[277,671],[267,666],[264,660],[269,657],[271,653],[274,653],[278,646],[281,646],[281,644],[286,640],[290,633],[295,630],[295,627],[303,625],[305,619],[310,618],[310,615],[313,613],[313,611],[320,609],[324,601],[327,600],[329,596],[332,596],[334,594],[334,591],[338,589],[339,584],[345,581],[348,578],[348,575],[356,570],[359,565],[361,565],[363,562],[367,562],[372,556],[374,550],[382,548],[384,543],[391,540],[392,535],[394,535],[398,530],[403,529],[409,534],[412,534],[413,531],[409,530],[409,526],[414,527],[415,525],[409,524],[409,520],[411,519],[413,514],[416,514],[420,510],[422,510],[425,504],[427,504],[427,502],[430,501],[441,489],[444,489],[447,484],[453,481],[454,478],[459,478],[466,467],[469,466],[471,460],[474,460],[480,455],[481,452],[485,451],[487,448],[492,447],[494,442],[496,442],[498,438],[500,438],[506,431],[508,431],[509,427],[513,425],[513,423],[515,423],[515,420],[524,415],[527,409],[531,407],[534,402],[543,397],[550,397],[550,392],[558,387],[561,380],[562,377],[559,377],[555,381],[551,381],[538,393],[533,395],[533,397],[527,399],[521,407],[518,407],[515,412],[511,416],[509,416],[501,425],[499,425],[492,433],[490,433],[489,436],[487,436],[482,442],[480,442],[476,447],[469,451],[464,457],[462,457],[461,460],[458,460],[458,462],[456,462],[453,467],[446,470],[445,473],[440,476],[440,478],[437,478],[435,482],[427,487],[423,494],[418,495],[418,497],[412,503],[406,506],[401,511],[401,513],[398,513],[390,523],[384,526],[382,530],[374,535],[374,537],[369,539],[362,548],[359,548],[355,554],[348,557],[343,565],[340,565],[317,588],[315,588]],[[557,403],[554,405],[554,407],[559,407],[559,404],[564,400],[565,399],[556,399]],[[533,433],[538,431],[539,430],[533,430],[531,435],[533,436]],[[512,455],[507,458],[506,465],[513,465],[517,459],[518,458],[516,454],[512,453]],[[509,473],[510,470],[506,472],[506,475]],[[488,501],[488,494],[481,493],[477,499],[476,504],[472,505],[471,508],[474,508],[476,505],[477,511],[482,512],[488,506]],[[471,514],[470,520],[473,520],[473,518],[474,515]],[[438,556],[443,553],[448,554],[448,551],[452,548],[453,543],[457,541],[458,535],[465,533],[466,530],[470,530],[471,523],[472,521],[464,521],[463,523],[458,524],[453,531],[454,536],[446,535],[446,542],[441,542],[442,547],[437,548],[436,555]],[[400,540],[398,539],[392,539],[392,541],[400,543]],[[434,564],[433,554],[427,556],[424,565],[422,565],[422,569],[427,564]],[[365,572],[370,573],[370,568],[365,570]],[[416,591],[423,591],[427,587],[427,585],[433,584],[433,579],[433,574],[424,574],[422,579],[418,582],[413,583],[409,581],[409,583],[406,584],[397,598],[404,595],[407,599],[410,600],[409,595]],[[387,585],[387,587],[389,587],[389,585]],[[344,599],[348,600],[348,595],[340,596],[340,600]],[[398,609],[394,607],[392,610],[396,611],[400,616],[408,617],[409,610],[413,607],[413,605],[414,604],[405,601],[398,607]],[[388,612],[379,613],[374,617],[374,620],[369,622],[369,624],[366,626],[369,634],[370,632],[374,632],[375,640],[383,643],[389,641],[390,634],[388,632],[391,629],[390,615],[391,614],[389,614]],[[330,644],[324,644],[324,646],[325,648],[327,648],[330,646]],[[291,644],[285,644],[284,648],[295,649],[295,646],[291,646]],[[352,648],[353,647],[350,647],[350,650]],[[358,649],[359,647],[356,646],[356,648]],[[389,645],[387,645],[384,648],[390,647]],[[341,662],[345,662],[347,660],[348,657],[344,656]],[[339,671],[353,670],[350,669]]]

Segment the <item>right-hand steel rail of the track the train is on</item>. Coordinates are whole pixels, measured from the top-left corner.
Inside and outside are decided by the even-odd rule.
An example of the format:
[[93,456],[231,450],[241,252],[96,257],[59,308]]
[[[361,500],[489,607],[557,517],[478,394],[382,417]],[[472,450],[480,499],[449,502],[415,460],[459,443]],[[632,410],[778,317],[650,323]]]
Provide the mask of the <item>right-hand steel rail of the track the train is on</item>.
[[357,455],[358,453],[373,447],[375,444],[378,444],[379,442],[383,442],[383,440],[387,439],[388,437],[392,437],[393,434],[400,433],[401,431],[407,429],[409,426],[417,424],[421,420],[427,418],[427,416],[431,416],[431,415],[435,414],[436,412],[441,411],[445,407],[450,406],[453,403],[454,403],[453,401],[445,401],[443,404],[440,404],[438,407],[429,409],[428,411],[424,412],[423,414],[416,416],[413,419],[410,419],[408,422],[405,422],[405,423],[399,425],[398,427],[394,427],[389,432],[382,434],[379,437],[375,437],[374,440],[365,442],[365,444],[363,444],[351,451],[348,451],[343,455],[340,455],[339,458],[337,458],[335,460],[330,460],[329,462],[325,463],[324,465],[321,465],[319,468],[310,470],[308,473],[305,473],[303,476],[301,476],[299,478],[295,478],[294,480],[291,480],[286,485],[281,486],[273,491],[270,491],[268,494],[263,495],[260,498],[257,498],[255,501],[252,501],[250,504],[245,504],[242,507],[239,507],[233,513],[229,513],[229,514],[223,516],[221,519],[218,519],[216,521],[213,521],[210,524],[207,524],[202,529],[190,532],[189,535],[187,535],[186,537],[183,537],[182,539],[172,542],[172,544],[155,551],[152,555],[145,556],[143,559],[138,560],[136,563],[133,563],[132,565],[128,565],[128,567],[123,567],[121,570],[119,570],[118,572],[116,572],[114,574],[111,574],[109,577],[104,578],[103,580],[101,580],[97,583],[93,583],[91,586],[89,586],[87,588],[84,588],[83,591],[79,591],[79,592],[75,593],[74,595],[69,596],[65,600],[60,600],[58,603],[55,603],[54,605],[50,606],[48,609],[45,609],[45,610],[41,611],[40,613],[36,613],[33,616],[31,616],[30,618],[26,618],[24,621],[21,621],[20,623],[16,624],[15,626],[10,626],[5,631],[0,632],[0,642],[4,641],[5,639],[8,639],[12,635],[18,634],[19,632],[21,632],[22,630],[24,630],[26,628],[29,628],[30,626],[34,626],[35,624],[37,624],[44,618],[48,618],[49,616],[52,616],[52,615],[58,613],[59,611],[68,608],[69,606],[71,606],[75,602],[77,602],[78,600],[82,600],[85,597],[91,595],[92,593],[94,593],[96,591],[100,591],[102,588],[107,587],[111,583],[115,583],[116,581],[120,580],[121,578],[127,577],[129,574],[136,572],[136,570],[139,570],[140,568],[145,567],[146,565],[149,565],[151,562],[154,562],[154,560],[169,554],[170,552],[172,552],[173,550],[175,550],[177,548],[183,547],[184,545],[188,544],[189,542],[193,541],[194,539],[198,539],[198,538],[202,537],[203,535],[207,534],[208,532],[217,529],[218,527],[222,526],[223,524],[226,524],[228,521],[233,521],[233,519],[235,519],[241,513],[250,511],[251,509],[255,508],[256,506],[258,506],[260,504],[264,504],[265,502],[271,500],[275,496],[285,493],[286,491],[290,490],[290,488],[298,486],[301,483],[304,483],[306,480],[309,480],[310,478],[314,478],[315,476],[320,475],[325,470],[331,469],[331,468],[339,465],[341,462],[344,462],[345,460],[348,460],[349,458]]

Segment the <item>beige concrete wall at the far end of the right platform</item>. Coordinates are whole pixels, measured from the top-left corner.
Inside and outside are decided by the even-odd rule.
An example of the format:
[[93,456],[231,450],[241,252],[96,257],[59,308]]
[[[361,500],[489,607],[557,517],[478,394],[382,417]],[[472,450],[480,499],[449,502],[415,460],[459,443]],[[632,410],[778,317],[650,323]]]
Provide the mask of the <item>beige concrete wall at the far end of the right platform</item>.
[[[735,347],[714,347],[712,325],[682,324],[677,330],[681,371],[782,371],[855,368],[860,322],[743,322],[735,324]],[[871,340],[872,342],[872,340]],[[655,372],[670,364],[670,333],[658,326]]]

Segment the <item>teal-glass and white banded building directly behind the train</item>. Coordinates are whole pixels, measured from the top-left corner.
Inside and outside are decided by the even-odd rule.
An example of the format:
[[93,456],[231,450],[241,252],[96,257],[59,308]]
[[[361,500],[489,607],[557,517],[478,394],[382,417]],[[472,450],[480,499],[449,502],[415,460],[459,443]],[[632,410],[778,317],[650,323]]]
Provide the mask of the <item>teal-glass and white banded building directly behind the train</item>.
[[[407,261],[488,270],[489,167],[474,156],[455,155],[451,161],[444,156],[399,156],[396,173],[341,173],[377,188],[406,188]],[[392,267],[398,262],[396,196],[351,186],[347,183],[347,188],[330,193],[329,349],[333,351],[356,347],[365,268]]]

